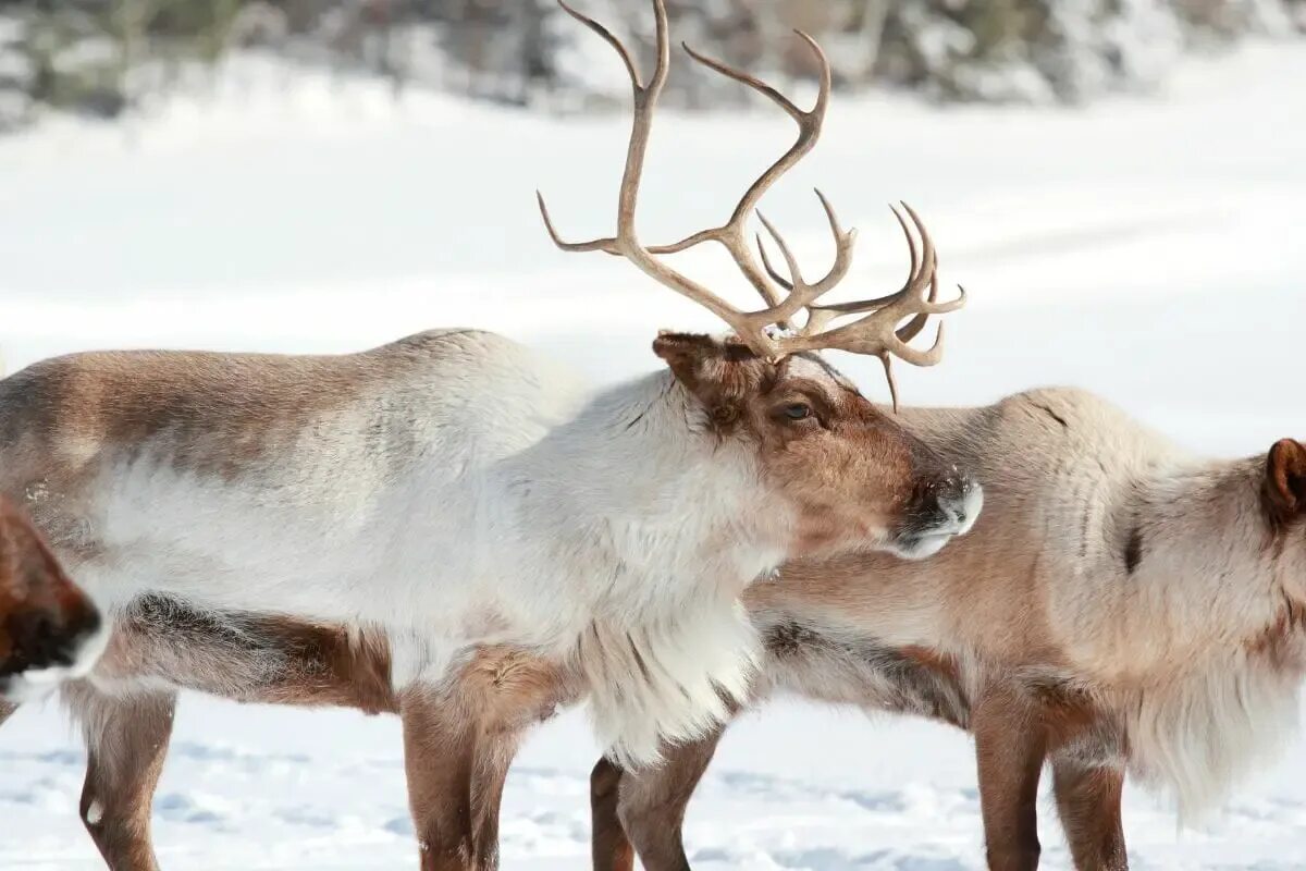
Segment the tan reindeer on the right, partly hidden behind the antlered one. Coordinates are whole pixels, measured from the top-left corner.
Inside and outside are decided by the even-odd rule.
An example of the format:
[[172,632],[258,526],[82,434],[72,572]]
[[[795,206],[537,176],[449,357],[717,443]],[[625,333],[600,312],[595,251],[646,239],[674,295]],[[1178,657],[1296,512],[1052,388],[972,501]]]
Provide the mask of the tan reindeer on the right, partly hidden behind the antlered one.
[[[1037,867],[1043,763],[1075,867],[1127,867],[1126,773],[1181,820],[1293,734],[1306,675],[1306,447],[1192,457],[1074,389],[904,424],[977,470],[976,529],[927,563],[804,558],[744,594],[774,693],[974,735],[989,867]],[[722,730],[724,731],[724,730]],[[690,867],[686,806],[721,731],[658,768],[601,760],[594,867]]]

